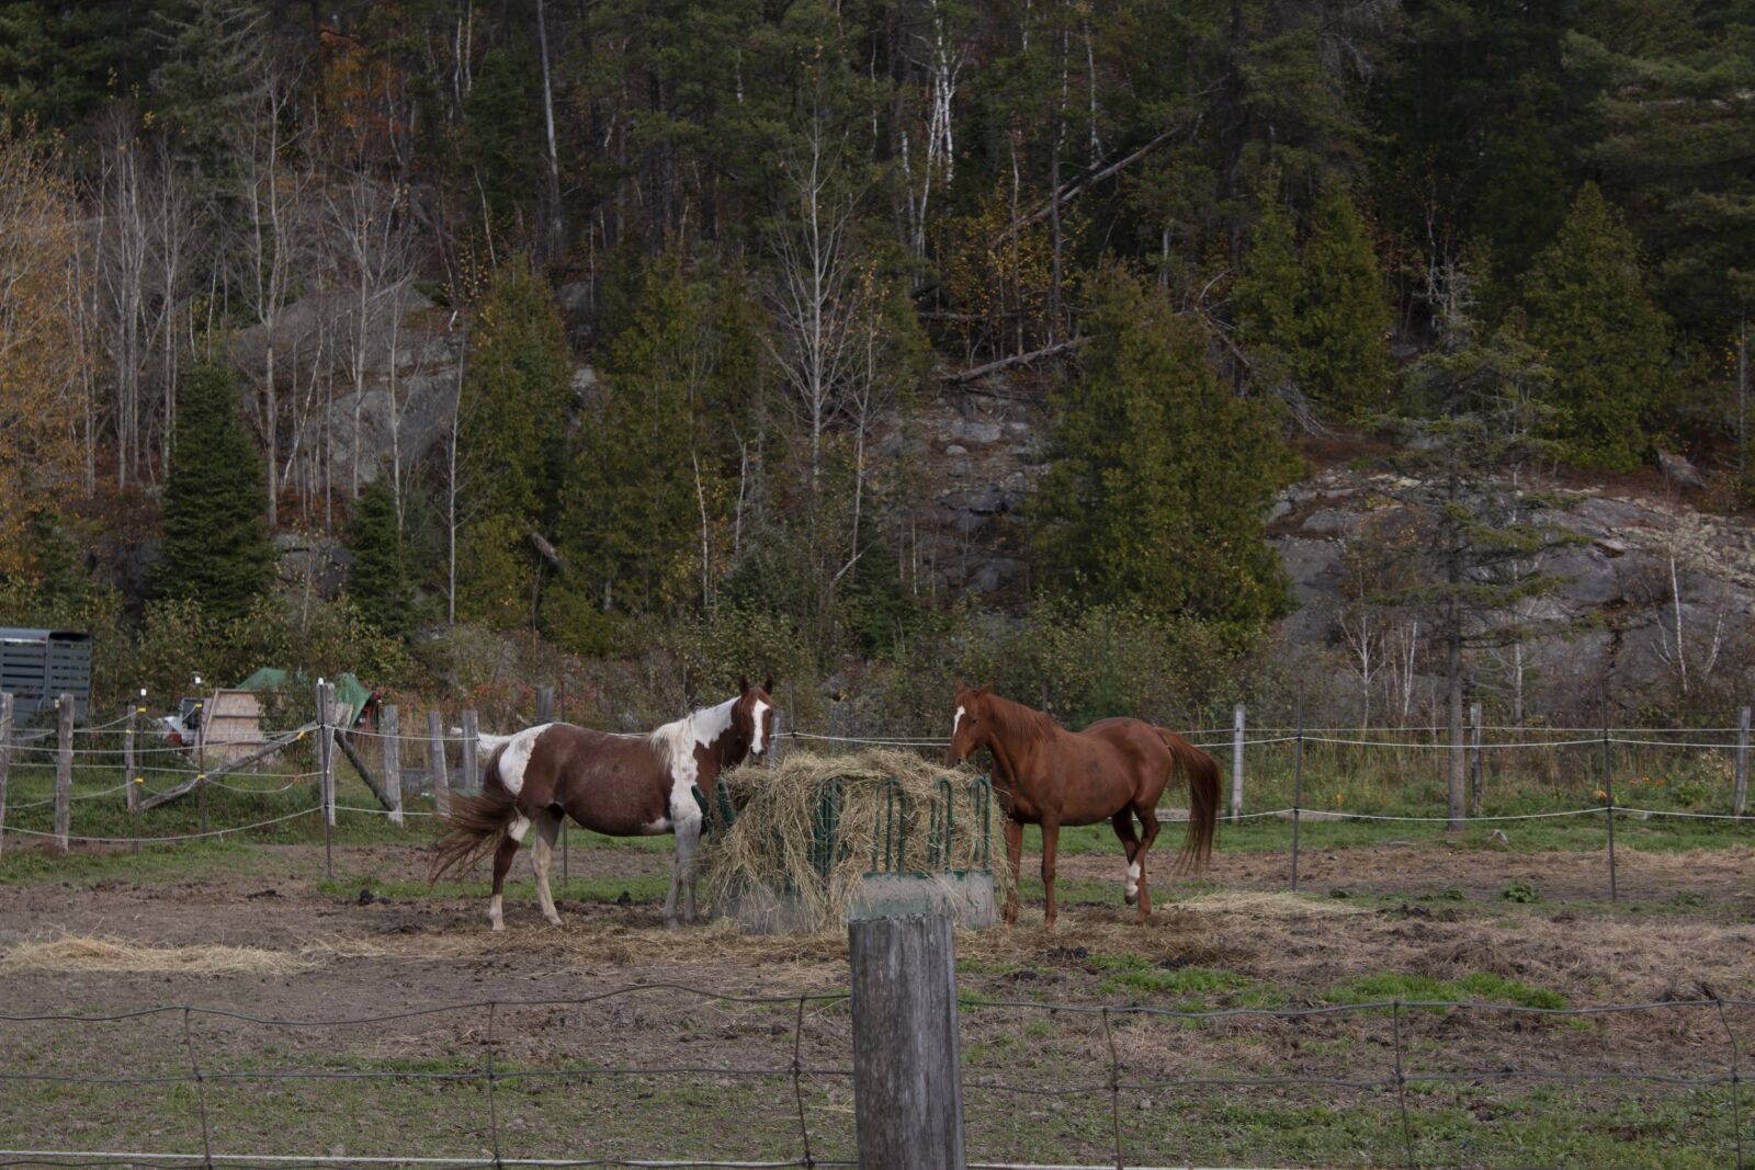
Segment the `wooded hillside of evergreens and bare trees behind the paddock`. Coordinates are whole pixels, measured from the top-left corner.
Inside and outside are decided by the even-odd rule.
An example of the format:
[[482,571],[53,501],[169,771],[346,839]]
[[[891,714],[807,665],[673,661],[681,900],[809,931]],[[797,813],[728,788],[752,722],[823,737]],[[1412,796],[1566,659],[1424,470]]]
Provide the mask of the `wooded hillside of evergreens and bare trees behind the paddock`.
[[11,0],[0,624],[100,707],[1723,719],[1741,570],[1525,649],[1602,484],[1755,496],[1751,161],[1746,0]]

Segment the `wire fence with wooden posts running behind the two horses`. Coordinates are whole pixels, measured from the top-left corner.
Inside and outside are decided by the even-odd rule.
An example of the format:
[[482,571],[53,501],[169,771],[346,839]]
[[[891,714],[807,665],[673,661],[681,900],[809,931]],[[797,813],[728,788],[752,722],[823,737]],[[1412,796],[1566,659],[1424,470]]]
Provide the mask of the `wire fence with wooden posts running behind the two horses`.
[[[0,847],[14,838],[63,851],[139,851],[221,838],[309,840],[321,831],[330,874],[328,844],[344,819],[395,826],[430,821],[449,791],[479,791],[488,756],[479,735],[458,733],[442,719],[428,719],[425,731],[395,730],[395,709],[377,728],[325,728],[318,735],[318,724],[305,724],[225,744],[153,742],[147,726],[149,716],[137,709],[72,728],[72,735],[51,731],[51,742],[19,742],[14,733],[0,744]],[[472,716],[465,716],[465,726],[474,726]],[[1227,765],[1232,824],[1286,823],[1293,889],[1307,847],[1302,833],[1313,823],[1504,830],[1516,823],[1597,819],[1608,895],[1618,900],[1616,824],[1669,824],[1674,831],[1692,826],[1722,835],[1741,833],[1751,821],[1746,724],[1583,731],[1490,726],[1476,714],[1467,742],[1453,744],[1444,728],[1434,726],[1251,730],[1239,710],[1232,728],[1200,728],[1190,737]],[[376,807],[337,796],[337,753],[328,744],[346,756],[340,767],[351,767]],[[930,753],[948,740],[925,733],[832,735],[786,726],[783,717],[769,758],[867,746]],[[1446,807],[1444,768],[1457,754],[1469,774],[1462,809]],[[1251,795],[1269,807],[1250,809]],[[1420,800],[1439,809],[1422,810]],[[1167,819],[1179,816],[1160,812]],[[563,844],[563,877],[567,849]]]

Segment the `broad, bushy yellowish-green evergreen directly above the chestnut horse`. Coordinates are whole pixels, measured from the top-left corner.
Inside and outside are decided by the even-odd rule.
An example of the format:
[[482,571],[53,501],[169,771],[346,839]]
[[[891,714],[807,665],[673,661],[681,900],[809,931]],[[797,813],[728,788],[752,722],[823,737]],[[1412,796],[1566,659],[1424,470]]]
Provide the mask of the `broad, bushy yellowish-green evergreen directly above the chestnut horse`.
[[1085,375],[1057,395],[1032,502],[1051,588],[1258,631],[1288,603],[1265,542],[1293,472],[1274,412],[1218,379],[1207,339],[1157,286],[1106,272],[1086,323]]

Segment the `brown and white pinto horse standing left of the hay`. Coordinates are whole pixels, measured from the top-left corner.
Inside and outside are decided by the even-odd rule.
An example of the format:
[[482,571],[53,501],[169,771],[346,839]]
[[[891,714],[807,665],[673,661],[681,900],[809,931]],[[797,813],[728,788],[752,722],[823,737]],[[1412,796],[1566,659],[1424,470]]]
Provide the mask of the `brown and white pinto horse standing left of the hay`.
[[[676,926],[676,891],[681,886],[684,917],[693,923],[700,805],[690,786],[698,784],[702,793],[711,795],[720,772],[742,763],[748,754],[762,754],[774,730],[772,688],[772,679],[762,686],[741,679],[737,698],[695,710],[644,737],[609,735],[570,723],[544,723],[504,738],[483,737],[495,747],[481,795],[451,796],[451,810],[444,817],[449,831],[439,842],[433,881],[456,865],[474,865],[493,847],[488,921],[493,930],[505,930],[500,909],[505,872],[512,868],[518,844],[535,826],[537,903],[542,917],[560,926],[548,867],[560,819],[570,816],[609,837],[676,833],[663,921]],[[495,840],[498,845],[493,845]]]

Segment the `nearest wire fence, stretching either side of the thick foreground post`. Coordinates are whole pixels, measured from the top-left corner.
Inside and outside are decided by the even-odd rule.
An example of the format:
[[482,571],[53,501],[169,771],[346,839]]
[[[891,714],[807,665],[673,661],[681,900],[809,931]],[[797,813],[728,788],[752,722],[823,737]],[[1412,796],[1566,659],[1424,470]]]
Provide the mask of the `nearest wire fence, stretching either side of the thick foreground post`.
[[[18,1105],[4,1114],[11,1121],[0,1133],[0,1166],[853,1166],[858,1149],[846,1105],[865,1072],[848,1023],[849,1009],[860,1009],[849,1000],[846,988],[734,993],[644,982],[577,996],[504,996],[318,1019],[191,1003],[0,1014],[7,1052],[0,1084]],[[1748,1030],[1750,1009],[1755,1002],[1732,998],[1595,1007],[1390,998],[1178,1010],[960,995],[967,1165],[1137,1170],[1190,1166],[1197,1151],[1228,1165],[1260,1165],[1257,1158],[1271,1151],[1248,1128],[1220,1124],[1214,1140],[1214,1126],[1199,1110],[1176,1107],[1213,1102],[1213,1091],[1223,1091],[1225,1102],[1320,1100],[1362,1110],[1372,1123],[1374,1147],[1360,1151],[1369,1165],[1453,1165],[1458,1149],[1478,1163],[1495,1137],[1492,1117],[1458,1135],[1436,1093],[1460,1086],[1502,1102],[1492,1095],[1571,1086],[1581,1093],[1530,1098],[1555,1112],[1555,1142],[1588,1133],[1616,1103],[1650,1109],[1653,1093],[1685,1093],[1690,1124],[1664,1133],[1664,1158],[1744,1170],[1739,1033]],[[1662,1017],[1657,1028],[1688,1052],[1680,1067],[1587,1056],[1618,1038],[1616,1028],[1651,1017]],[[453,1023],[442,1026],[446,1019]],[[598,1035],[611,1021],[618,1030]],[[620,1063],[618,1040],[639,1028],[684,1059]],[[714,1028],[734,1040],[714,1044],[707,1035]],[[1190,1028],[1214,1033],[1213,1042],[1179,1058]],[[1300,1040],[1327,1040],[1337,1049],[1337,1028],[1365,1042],[1358,1058],[1313,1058],[1290,1070],[1267,1059],[1269,1068],[1248,1068],[1248,1054],[1264,1040],[1293,1049]],[[972,1040],[995,1030],[1083,1051],[1088,1068],[1025,1061],[995,1070],[992,1059],[967,1056]],[[555,1059],[569,1037],[574,1051],[590,1044],[597,1058]],[[1244,1054],[1236,1072],[1213,1056],[1223,1040],[1236,1040],[1234,1051]],[[1639,1052],[1644,1045],[1627,1047]],[[261,1059],[288,1049],[304,1059]],[[386,1051],[426,1059],[386,1061],[377,1056]],[[728,1056],[716,1059],[721,1051]],[[1520,1063],[1506,1063],[1508,1052]],[[311,1095],[297,1096],[300,1086]],[[351,1096],[339,1096],[347,1086]],[[565,1095],[542,1096],[551,1088]],[[1629,1095],[1613,1098],[1616,1089]],[[1135,1109],[1143,1096],[1155,1105]],[[630,1109],[635,1100],[639,1107]],[[126,1107],[81,1112],[93,1102]],[[1016,1102],[1083,1103],[1085,1112],[1044,1123]],[[309,1116],[309,1109],[318,1112]],[[68,1124],[68,1110],[77,1124]],[[532,1123],[535,1110],[549,1112]],[[384,1126],[384,1119],[397,1123]],[[297,1152],[297,1142],[291,1151],[263,1149],[283,1126],[326,1152]],[[186,1147],[146,1147],[144,1137],[179,1128]],[[79,1140],[56,1140],[68,1131]],[[660,1131],[667,1137],[655,1142]],[[1506,1140],[1522,1144],[1527,1135]],[[1646,1149],[1629,1156],[1637,1161]],[[1051,1152],[1057,1161],[1016,1159],[1018,1151]]]

